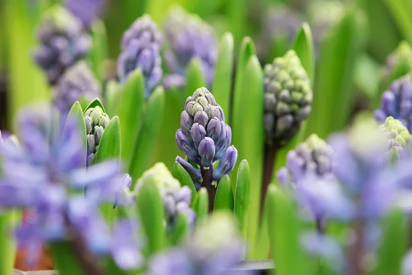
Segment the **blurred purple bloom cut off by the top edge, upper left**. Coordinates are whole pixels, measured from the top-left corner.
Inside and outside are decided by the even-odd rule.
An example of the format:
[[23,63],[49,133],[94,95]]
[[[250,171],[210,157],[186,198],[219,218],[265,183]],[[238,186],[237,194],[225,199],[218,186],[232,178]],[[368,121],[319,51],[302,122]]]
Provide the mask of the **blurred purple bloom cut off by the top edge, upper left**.
[[106,0],[65,0],[67,8],[80,19],[86,28],[96,21]]

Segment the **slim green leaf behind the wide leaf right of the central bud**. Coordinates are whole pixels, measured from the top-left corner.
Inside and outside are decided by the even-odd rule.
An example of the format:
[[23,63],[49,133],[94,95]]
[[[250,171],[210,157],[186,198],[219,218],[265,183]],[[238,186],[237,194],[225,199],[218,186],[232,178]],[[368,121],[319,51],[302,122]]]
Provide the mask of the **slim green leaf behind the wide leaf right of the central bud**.
[[231,120],[227,121],[227,123],[233,126],[233,128],[238,126],[236,123],[240,123],[236,118],[239,118],[241,113],[244,113],[244,109],[240,107],[240,102],[242,101],[241,89],[244,82],[243,75],[249,58],[251,58],[254,54],[255,45],[253,45],[252,39],[249,36],[244,37],[242,45],[240,46],[238,65],[236,66],[235,86],[233,87],[233,102],[231,104]]

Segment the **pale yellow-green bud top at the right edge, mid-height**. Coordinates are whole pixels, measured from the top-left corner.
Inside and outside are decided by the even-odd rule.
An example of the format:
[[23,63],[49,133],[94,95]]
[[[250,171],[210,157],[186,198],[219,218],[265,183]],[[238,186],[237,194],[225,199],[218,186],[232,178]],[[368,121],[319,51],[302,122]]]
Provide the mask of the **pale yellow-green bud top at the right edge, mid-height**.
[[379,129],[387,137],[388,151],[395,147],[399,152],[409,153],[409,155],[412,153],[412,136],[400,120],[389,116],[383,124],[380,124]]

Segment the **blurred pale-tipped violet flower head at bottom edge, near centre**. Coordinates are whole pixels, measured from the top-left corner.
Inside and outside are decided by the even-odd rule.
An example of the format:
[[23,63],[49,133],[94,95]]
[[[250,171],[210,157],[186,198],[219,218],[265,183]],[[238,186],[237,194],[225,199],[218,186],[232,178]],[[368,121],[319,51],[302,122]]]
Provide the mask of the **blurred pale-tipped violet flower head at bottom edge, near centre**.
[[243,251],[231,215],[218,212],[186,243],[153,257],[146,275],[223,275],[240,261]]

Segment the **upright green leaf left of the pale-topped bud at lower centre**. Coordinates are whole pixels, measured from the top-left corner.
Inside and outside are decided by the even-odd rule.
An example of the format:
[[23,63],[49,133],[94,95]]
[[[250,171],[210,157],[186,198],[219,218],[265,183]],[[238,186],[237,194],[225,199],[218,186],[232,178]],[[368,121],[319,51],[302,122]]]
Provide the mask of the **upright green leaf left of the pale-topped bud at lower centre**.
[[[155,254],[164,247],[164,212],[155,179],[145,177],[137,192],[136,206],[147,237],[148,254]],[[150,210],[150,211],[148,211]]]

